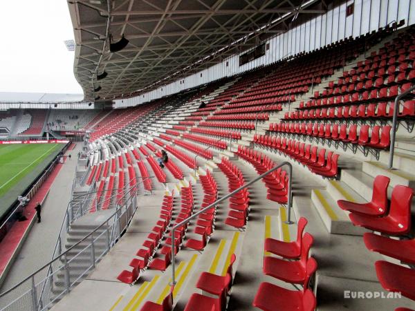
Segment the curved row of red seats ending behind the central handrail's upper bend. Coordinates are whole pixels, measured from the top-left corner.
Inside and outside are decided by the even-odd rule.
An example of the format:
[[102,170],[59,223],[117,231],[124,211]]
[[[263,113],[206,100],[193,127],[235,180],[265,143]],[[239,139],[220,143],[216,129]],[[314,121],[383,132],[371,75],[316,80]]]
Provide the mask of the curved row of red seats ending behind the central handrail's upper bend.
[[[252,164],[258,174],[265,173],[276,165],[268,156],[241,145],[238,146],[237,156]],[[273,200],[280,204],[288,202],[288,176],[285,170],[279,168],[262,178],[262,181],[268,189],[266,197],[268,200]]]

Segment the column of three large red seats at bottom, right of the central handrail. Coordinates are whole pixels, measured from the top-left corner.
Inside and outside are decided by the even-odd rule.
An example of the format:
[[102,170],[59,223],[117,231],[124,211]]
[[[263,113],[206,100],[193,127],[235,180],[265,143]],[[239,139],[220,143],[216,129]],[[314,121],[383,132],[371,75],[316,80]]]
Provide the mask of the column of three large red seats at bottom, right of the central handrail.
[[264,256],[263,272],[268,276],[286,283],[300,284],[300,290],[288,290],[279,285],[263,282],[259,285],[257,294],[252,303],[261,310],[304,310],[313,311],[317,301],[311,290],[311,278],[317,271],[317,261],[309,252],[314,238],[306,232],[306,218],[299,218],[297,224],[297,238],[293,242],[279,241],[266,238],[264,251],[282,258]]

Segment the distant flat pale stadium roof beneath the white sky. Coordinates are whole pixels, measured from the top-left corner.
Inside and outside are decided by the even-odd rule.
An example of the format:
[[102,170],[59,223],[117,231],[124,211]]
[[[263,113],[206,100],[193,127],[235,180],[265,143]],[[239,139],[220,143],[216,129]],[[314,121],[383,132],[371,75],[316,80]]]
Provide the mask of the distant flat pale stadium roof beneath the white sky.
[[11,93],[0,92],[1,103],[59,103],[81,102],[82,94],[58,94],[58,93]]

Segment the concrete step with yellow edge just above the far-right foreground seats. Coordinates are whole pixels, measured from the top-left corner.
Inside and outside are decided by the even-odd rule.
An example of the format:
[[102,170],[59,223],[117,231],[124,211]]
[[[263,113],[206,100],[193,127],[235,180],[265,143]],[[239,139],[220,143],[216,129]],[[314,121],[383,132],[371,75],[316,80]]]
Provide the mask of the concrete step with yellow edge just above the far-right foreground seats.
[[389,177],[391,187],[404,185],[415,189],[415,174],[413,173],[407,173],[399,169],[388,169],[386,164],[380,162],[363,162],[363,171],[372,177],[378,175]]

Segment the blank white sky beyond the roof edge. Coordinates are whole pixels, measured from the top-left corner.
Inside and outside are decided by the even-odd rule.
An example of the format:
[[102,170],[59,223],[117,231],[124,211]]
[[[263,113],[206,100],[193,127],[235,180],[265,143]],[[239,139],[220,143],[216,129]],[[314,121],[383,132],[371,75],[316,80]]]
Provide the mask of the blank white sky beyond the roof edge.
[[0,91],[83,93],[73,75],[65,0],[0,1]]

